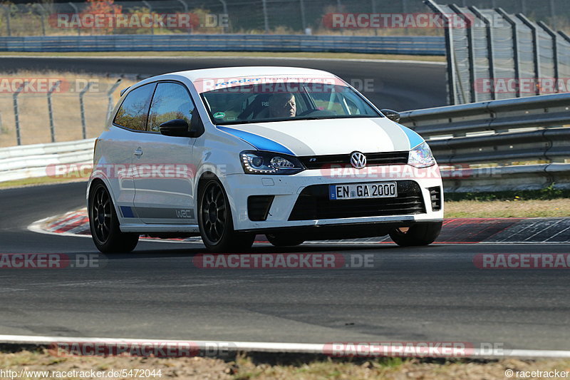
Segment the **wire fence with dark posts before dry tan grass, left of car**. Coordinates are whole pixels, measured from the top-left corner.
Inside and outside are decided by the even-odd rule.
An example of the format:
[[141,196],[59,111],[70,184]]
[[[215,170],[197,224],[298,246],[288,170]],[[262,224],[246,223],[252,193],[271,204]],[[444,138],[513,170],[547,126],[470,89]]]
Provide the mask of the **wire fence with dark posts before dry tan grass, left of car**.
[[130,78],[12,74],[0,77],[0,147],[100,134]]

